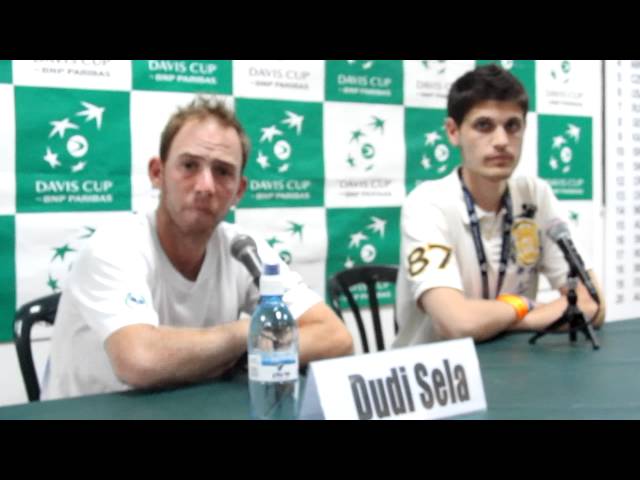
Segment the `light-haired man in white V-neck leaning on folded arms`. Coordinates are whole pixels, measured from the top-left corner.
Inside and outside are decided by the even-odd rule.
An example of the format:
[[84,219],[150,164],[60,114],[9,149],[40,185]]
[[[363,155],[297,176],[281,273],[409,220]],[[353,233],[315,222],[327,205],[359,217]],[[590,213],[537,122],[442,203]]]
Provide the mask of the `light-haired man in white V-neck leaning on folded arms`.
[[[249,139],[223,103],[199,97],[172,116],[149,162],[157,210],[99,230],[74,264],[43,398],[202,381],[246,352],[258,290],[230,253],[245,230],[223,219],[246,189],[248,154]],[[263,259],[277,258],[254,238]],[[351,353],[340,319],[286,264],[280,269],[300,363]]]

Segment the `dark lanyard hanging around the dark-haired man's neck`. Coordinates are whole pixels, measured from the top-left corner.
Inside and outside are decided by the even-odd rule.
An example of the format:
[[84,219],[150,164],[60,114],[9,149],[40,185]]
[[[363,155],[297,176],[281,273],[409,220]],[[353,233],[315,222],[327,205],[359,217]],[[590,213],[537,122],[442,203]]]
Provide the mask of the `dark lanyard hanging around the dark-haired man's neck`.
[[[462,185],[462,192],[464,194],[464,203],[467,206],[467,212],[469,214],[469,224],[471,226],[471,234],[473,235],[473,244],[476,247],[476,254],[478,255],[478,263],[480,264],[480,274],[482,275],[482,298],[489,298],[489,273],[487,256],[484,253],[484,245],[482,244],[482,236],[480,234],[480,222],[478,222],[478,216],[476,215],[475,202],[471,192],[464,184],[462,180],[462,169],[458,170],[458,177]],[[504,282],[504,276],[507,272],[507,262],[509,261],[509,250],[511,248],[511,226],[513,225],[513,207],[511,204],[511,195],[509,194],[509,187],[502,195],[502,206],[504,206],[506,213],[502,222],[502,250],[500,252],[500,266],[498,268],[498,285],[496,286],[496,295],[500,293],[502,283]]]

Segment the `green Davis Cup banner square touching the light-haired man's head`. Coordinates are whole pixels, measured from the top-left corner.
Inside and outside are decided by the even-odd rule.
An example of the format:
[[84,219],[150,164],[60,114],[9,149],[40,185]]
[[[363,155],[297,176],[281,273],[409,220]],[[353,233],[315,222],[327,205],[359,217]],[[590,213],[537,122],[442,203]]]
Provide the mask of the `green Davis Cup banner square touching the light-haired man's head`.
[[236,112],[252,145],[240,206],[322,206],[322,104],[239,98]]

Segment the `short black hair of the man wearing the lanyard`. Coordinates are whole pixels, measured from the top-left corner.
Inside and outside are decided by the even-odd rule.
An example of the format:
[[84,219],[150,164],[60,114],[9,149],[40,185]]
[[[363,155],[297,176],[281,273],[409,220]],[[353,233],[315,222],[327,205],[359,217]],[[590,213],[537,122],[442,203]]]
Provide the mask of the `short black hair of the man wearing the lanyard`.
[[474,106],[488,100],[517,103],[525,117],[529,110],[529,96],[520,80],[504,68],[490,64],[476,67],[453,82],[447,114],[461,125]]

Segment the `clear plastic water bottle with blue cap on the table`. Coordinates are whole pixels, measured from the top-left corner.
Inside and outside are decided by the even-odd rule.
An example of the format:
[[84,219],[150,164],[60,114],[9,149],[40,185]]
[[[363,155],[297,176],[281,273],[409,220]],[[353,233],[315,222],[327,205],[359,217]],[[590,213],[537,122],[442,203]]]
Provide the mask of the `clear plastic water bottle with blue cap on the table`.
[[283,293],[279,265],[265,264],[247,348],[255,419],[289,420],[298,414],[298,327]]

